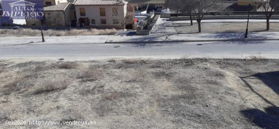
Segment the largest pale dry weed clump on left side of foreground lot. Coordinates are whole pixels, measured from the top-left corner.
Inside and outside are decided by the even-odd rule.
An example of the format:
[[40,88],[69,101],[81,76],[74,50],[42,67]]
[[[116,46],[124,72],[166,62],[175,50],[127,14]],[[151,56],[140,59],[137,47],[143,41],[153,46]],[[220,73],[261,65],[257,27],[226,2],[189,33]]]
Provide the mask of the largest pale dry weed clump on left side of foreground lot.
[[73,80],[68,77],[48,77],[38,82],[34,87],[34,94],[63,90],[71,85]]

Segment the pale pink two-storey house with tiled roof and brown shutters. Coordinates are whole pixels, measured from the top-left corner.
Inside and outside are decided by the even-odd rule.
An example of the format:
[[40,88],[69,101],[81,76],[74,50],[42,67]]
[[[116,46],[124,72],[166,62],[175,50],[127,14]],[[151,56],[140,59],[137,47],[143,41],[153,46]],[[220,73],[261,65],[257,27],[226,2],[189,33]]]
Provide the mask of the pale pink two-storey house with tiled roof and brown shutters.
[[124,0],[78,0],[77,25],[81,27],[125,29],[132,24],[134,10]]

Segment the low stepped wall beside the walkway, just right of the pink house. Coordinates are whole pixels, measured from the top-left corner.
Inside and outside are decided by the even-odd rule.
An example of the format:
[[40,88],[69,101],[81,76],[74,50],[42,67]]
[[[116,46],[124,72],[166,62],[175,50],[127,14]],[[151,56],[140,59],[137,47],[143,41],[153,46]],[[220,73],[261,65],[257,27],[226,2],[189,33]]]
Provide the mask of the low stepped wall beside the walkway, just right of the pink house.
[[[153,18],[153,17],[152,17]],[[150,35],[152,30],[154,29],[158,19],[160,18],[160,15],[156,15],[153,19],[153,21],[150,23],[150,25],[147,27],[147,29],[143,29],[144,26],[146,25],[139,25],[137,27],[137,30],[136,30],[136,34],[137,35]],[[146,19],[147,20],[147,19]]]

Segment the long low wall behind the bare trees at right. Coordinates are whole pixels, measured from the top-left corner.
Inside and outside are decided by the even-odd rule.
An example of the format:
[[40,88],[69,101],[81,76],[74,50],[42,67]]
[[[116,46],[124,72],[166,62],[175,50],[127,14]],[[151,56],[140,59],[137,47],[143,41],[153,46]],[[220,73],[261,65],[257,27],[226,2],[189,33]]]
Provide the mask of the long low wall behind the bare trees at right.
[[[217,15],[217,16],[204,16],[203,20],[212,19],[247,19],[247,15]],[[170,17],[171,21],[190,20],[189,16],[186,17]],[[194,19],[194,18],[193,18]],[[266,19],[265,15],[250,15],[250,19]],[[279,19],[279,15],[273,15],[270,19]]]

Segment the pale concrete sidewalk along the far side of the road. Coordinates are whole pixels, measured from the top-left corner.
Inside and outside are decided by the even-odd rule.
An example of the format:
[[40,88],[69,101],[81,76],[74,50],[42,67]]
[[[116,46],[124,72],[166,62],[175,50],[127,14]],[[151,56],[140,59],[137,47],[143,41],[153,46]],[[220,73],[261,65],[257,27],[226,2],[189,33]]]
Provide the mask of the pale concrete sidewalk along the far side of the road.
[[264,41],[279,40],[279,32],[216,34],[152,34],[150,36],[67,36],[45,37],[0,37],[0,46],[23,44],[103,44],[103,43],[171,43],[171,42],[210,42],[210,41]]

